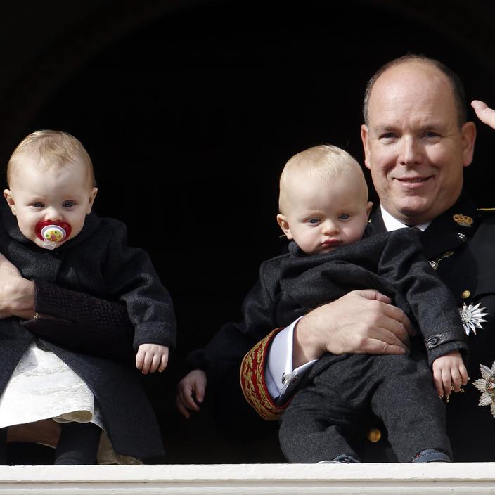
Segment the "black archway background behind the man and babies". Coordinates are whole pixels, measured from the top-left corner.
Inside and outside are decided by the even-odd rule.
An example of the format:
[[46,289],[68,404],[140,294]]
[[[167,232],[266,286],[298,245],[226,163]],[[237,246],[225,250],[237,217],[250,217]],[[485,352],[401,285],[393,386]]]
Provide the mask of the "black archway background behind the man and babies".
[[[468,100],[495,105],[495,8],[378,0],[22,4],[0,7],[0,162],[35,129],[75,134],[96,167],[97,212],[126,221],[131,243],[153,257],[179,321],[170,369],[147,385],[162,418],[165,462],[276,459],[259,445],[236,449],[204,420],[176,416],[184,356],[238,319],[259,262],[280,251],[285,160],[334,143],[362,161],[361,97],[378,66],[425,53],[461,75]],[[480,205],[495,206],[495,136],[478,129],[466,184]]]

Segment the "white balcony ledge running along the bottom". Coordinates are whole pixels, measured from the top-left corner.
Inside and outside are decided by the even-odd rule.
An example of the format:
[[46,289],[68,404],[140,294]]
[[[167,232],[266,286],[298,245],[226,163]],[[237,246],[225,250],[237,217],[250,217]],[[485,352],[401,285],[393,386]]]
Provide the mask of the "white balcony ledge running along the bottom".
[[495,463],[13,466],[0,494],[495,494]]

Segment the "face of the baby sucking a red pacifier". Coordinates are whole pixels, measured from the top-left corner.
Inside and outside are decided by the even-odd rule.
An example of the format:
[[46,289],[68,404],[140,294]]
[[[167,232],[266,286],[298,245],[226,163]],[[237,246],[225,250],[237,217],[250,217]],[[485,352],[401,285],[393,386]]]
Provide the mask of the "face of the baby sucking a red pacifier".
[[17,217],[20,231],[43,247],[43,241],[36,235],[37,224],[44,220],[63,221],[70,224],[71,233],[62,242],[77,236],[86,214],[91,212],[96,191],[89,184],[82,160],[60,169],[45,170],[32,156],[26,155],[4,196]]

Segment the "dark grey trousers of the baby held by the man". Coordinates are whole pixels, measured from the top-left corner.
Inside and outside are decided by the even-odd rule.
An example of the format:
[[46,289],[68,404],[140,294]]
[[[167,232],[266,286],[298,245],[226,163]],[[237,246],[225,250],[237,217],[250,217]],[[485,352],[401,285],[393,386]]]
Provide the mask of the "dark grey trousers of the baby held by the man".
[[297,392],[281,420],[283,454],[292,463],[357,458],[348,440],[373,413],[383,420],[399,462],[425,449],[451,458],[445,406],[424,356],[369,354],[332,362]]

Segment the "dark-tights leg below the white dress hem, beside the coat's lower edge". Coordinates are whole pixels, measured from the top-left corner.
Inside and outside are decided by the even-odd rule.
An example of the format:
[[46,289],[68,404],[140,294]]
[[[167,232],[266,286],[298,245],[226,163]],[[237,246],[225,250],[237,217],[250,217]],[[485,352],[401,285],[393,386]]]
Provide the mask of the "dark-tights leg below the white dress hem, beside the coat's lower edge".
[[96,464],[101,429],[93,423],[60,423],[55,465]]

